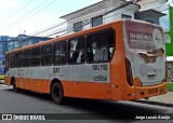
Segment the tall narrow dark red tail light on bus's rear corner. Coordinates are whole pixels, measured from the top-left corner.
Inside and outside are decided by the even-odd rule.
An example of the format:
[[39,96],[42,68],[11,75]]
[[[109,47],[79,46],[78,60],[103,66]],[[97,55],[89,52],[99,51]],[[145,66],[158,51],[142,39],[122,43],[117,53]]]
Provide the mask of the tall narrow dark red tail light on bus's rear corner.
[[133,86],[133,74],[130,60],[125,57],[125,71],[127,71],[127,81],[130,86]]

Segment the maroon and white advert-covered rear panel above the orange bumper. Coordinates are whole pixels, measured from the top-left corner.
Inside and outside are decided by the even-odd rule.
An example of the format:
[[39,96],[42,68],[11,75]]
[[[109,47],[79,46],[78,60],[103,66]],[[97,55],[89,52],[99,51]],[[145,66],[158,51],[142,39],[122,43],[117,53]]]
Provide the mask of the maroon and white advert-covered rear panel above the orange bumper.
[[154,24],[125,22],[125,57],[132,66],[133,79],[143,85],[159,84],[165,79],[165,55],[162,29]]

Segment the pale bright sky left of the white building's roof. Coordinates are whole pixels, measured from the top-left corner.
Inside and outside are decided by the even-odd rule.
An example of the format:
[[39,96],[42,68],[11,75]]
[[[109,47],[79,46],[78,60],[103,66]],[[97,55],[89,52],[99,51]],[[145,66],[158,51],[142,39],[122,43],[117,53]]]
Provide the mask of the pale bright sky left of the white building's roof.
[[0,36],[31,35],[102,0],[0,0]]

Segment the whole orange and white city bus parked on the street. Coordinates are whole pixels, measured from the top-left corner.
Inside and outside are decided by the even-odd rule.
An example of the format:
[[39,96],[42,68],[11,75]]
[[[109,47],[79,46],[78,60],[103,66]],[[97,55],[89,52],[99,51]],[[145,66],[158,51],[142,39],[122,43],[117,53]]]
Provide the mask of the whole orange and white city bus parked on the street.
[[168,92],[162,29],[123,19],[5,53],[5,85],[65,97],[135,100]]

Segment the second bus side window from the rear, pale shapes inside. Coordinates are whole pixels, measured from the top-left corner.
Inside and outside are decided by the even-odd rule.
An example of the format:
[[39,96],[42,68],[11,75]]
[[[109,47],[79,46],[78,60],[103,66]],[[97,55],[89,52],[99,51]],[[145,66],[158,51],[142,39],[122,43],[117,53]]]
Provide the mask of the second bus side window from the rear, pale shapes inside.
[[84,63],[84,37],[71,39],[68,42],[68,62],[71,64]]

